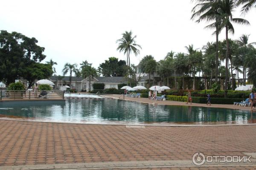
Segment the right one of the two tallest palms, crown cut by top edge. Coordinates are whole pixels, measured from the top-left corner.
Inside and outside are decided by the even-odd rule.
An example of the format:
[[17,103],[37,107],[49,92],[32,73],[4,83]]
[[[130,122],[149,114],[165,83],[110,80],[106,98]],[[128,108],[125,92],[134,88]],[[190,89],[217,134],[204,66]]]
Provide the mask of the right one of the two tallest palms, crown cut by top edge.
[[221,0],[220,3],[220,10],[218,11],[218,18],[219,21],[212,23],[207,28],[216,28],[216,25],[218,25],[218,30],[216,32],[220,32],[222,29],[225,28],[226,32],[226,73],[225,73],[225,97],[227,97],[227,82],[228,82],[228,59],[229,59],[229,40],[228,40],[228,32],[234,34],[235,29],[232,25],[232,23],[237,23],[241,25],[250,25],[250,23],[247,20],[244,20],[242,18],[233,18],[233,11],[236,8],[236,0]]

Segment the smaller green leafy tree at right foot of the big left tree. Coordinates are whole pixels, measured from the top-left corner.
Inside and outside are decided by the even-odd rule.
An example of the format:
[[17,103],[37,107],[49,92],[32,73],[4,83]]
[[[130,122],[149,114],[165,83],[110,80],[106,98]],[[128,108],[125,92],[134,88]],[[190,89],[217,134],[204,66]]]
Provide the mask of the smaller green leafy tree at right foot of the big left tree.
[[50,64],[31,62],[24,68],[23,78],[29,82],[29,87],[35,84],[35,80],[47,79],[53,74]]

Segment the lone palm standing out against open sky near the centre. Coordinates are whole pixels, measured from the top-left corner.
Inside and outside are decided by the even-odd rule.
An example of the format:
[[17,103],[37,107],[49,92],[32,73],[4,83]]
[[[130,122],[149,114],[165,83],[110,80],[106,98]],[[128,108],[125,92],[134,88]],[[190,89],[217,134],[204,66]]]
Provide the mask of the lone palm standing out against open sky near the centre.
[[116,43],[118,43],[118,47],[116,48],[117,51],[123,52],[127,56],[127,65],[130,67],[130,53],[133,52],[135,56],[140,54],[141,46],[136,44],[135,38],[132,36],[132,31],[128,32],[125,31],[125,33],[122,34],[122,38],[119,40],[116,40]]

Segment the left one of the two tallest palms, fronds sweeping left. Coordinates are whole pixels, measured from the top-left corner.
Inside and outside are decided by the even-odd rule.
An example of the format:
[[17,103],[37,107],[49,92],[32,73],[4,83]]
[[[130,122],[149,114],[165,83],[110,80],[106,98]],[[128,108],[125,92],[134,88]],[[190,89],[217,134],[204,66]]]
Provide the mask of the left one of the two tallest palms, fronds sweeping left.
[[216,34],[216,50],[215,50],[215,82],[218,82],[218,26],[219,24],[219,15],[218,11],[220,8],[221,0],[195,0],[196,6],[192,9],[192,17],[191,19],[195,19],[197,23],[200,23],[203,20],[207,22],[214,20],[215,25],[215,34]]

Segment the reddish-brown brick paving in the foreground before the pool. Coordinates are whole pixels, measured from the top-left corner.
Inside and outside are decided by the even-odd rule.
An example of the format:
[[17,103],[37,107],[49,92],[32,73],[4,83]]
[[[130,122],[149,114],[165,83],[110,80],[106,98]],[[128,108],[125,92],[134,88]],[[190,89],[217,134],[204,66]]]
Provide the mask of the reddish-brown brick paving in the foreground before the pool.
[[126,128],[0,120],[0,166],[191,160],[256,152],[256,125]]

